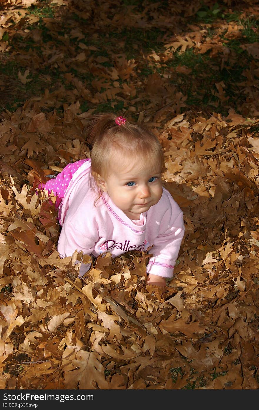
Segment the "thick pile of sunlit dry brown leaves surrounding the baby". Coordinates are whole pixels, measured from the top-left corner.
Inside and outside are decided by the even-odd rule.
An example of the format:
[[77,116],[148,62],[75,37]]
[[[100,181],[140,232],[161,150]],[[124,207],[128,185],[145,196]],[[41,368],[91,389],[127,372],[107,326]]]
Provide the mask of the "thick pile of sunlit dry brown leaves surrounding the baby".
[[84,280],[76,255],[59,258],[54,205],[35,187],[89,155],[86,122],[27,104],[1,124],[1,387],[257,389],[255,121],[180,114],[153,129],[186,223],[166,289],[145,286],[144,253],[99,257]]

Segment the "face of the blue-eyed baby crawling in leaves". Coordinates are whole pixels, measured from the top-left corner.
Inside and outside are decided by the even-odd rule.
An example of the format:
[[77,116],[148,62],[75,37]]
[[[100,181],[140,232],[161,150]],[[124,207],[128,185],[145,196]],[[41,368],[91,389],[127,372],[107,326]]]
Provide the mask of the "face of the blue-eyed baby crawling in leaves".
[[114,204],[129,219],[138,220],[142,212],[158,203],[162,196],[161,164],[143,166],[140,158],[115,157],[110,164],[109,177],[101,186]]

